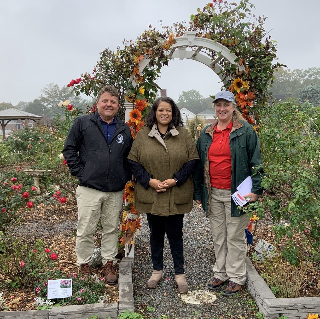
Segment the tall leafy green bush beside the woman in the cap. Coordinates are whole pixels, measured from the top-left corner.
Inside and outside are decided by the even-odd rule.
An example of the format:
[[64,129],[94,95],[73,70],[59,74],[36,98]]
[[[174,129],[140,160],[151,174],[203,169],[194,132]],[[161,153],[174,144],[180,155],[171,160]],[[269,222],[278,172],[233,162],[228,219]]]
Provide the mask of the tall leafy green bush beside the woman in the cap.
[[[320,108],[309,103],[274,104],[262,114],[259,139],[267,173],[261,186],[268,192],[256,204],[256,212],[269,210],[277,224],[278,239],[289,238],[283,252],[298,266],[299,250],[294,234],[300,232],[312,247],[310,257],[320,254]],[[275,193],[276,192],[276,193]],[[259,216],[259,214],[258,214]]]

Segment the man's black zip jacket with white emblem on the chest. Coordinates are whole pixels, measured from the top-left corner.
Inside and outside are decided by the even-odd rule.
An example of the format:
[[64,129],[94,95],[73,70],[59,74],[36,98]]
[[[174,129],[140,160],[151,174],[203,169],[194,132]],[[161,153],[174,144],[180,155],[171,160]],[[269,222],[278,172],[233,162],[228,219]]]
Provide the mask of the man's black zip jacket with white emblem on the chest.
[[98,112],[76,118],[67,135],[63,156],[78,184],[102,192],[124,189],[132,178],[127,156],[132,146],[130,128],[116,117],[117,124],[108,145]]

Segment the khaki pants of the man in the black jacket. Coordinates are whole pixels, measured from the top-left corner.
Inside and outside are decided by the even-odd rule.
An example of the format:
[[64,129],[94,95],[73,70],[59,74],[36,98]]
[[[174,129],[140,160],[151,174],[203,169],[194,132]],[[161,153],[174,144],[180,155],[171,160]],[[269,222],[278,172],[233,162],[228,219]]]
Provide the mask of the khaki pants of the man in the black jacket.
[[76,255],[78,266],[92,264],[94,248],[93,234],[101,217],[101,256],[103,265],[108,261],[116,264],[118,252],[118,222],[123,203],[123,192],[100,192],[96,189],[78,186],[76,189],[78,224]]

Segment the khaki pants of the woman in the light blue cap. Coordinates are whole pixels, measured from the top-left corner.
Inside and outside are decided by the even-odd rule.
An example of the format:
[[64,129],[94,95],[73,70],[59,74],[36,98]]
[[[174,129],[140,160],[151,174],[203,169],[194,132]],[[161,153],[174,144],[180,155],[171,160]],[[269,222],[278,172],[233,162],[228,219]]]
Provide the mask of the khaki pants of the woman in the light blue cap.
[[247,252],[245,228],[250,217],[246,214],[240,217],[231,217],[230,200],[229,189],[211,187],[209,220],[216,255],[213,272],[214,277],[222,281],[230,279],[236,284],[244,285]]

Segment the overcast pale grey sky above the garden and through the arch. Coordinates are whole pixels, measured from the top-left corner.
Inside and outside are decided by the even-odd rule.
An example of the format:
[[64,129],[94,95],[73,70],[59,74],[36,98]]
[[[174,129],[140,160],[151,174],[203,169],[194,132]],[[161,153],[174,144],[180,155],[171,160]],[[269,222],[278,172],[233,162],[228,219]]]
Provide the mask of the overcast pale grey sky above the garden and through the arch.
[[[235,0],[238,2],[239,0]],[[230,1],[231,2],[231,1]],[[29,102],[45,84],[67,85],[92,72],[105,48],[135,40],[149,23],[160,28],[187,20],[208,1],[0,0],[0,102]],[[252,13],[268,17],[278,42],[278,62],[290,69],[320,67],[319,0],[253,0]],[[169,61],[158,80],[177,100],[182,91],[204,97],[220,90],[219,78],[191,60]]]

